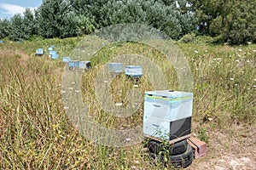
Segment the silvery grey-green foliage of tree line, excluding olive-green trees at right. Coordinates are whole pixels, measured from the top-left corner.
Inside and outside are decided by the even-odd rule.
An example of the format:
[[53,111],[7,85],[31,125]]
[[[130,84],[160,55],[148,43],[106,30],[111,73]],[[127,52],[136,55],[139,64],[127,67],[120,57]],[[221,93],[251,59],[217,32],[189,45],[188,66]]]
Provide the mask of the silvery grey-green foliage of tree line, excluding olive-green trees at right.
[[[172,3],[171,3],[172,2]],[[42,37],[76,37],[90,34],[96,29],[119,23],[140,23],[154,26],[174,39],[194,30],[195,17],[184,8],[177,8],[175,1],[166,3],[154,0],[44,0],[24,17],[15,15],[11,20],[10,39],[28,39],[34,34]],[[20,20],[20,21],[19,21]],[[21,30],[17,27],[23,24]],[[25,31],[22,35],[21,31]],[[8,36],[3,34],[4,36]]]

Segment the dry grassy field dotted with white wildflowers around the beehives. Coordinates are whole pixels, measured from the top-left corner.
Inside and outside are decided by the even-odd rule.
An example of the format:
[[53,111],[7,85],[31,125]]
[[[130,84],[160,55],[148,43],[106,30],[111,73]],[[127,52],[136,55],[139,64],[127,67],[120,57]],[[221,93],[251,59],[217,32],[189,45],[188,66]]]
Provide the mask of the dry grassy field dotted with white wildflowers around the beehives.
[[[0,169],[161,168],[150,161],[143,144],[102,146],[73,127],[61,96],[65,64],[61,59],[49,59],[47,50],[42,57],[34,53],[36,48],[55,45],[61,57],[68,56],[82,38],[0,44]],[[194,80],[192,133],[207,142],[207,156],[193,161],[188,169],[255,169],[256,45],[196,42],[178,46],[189,60]],[[81,91],[90,115],[104,127],[142,126],[143,105],[133,116],[118,118],[102,111],[96,102],[97,72],[113,56],[131,53],[152,59],[165,74],[168,88],[178,90],[172,65],[155,49],[134,42],[102,48],[91,59],[92,69],[83,74]],[[141,95],[154,89],[147,77],[134,86],[121,75],[111,83],[113,102],[129,105],[127,91],[132,88]]]

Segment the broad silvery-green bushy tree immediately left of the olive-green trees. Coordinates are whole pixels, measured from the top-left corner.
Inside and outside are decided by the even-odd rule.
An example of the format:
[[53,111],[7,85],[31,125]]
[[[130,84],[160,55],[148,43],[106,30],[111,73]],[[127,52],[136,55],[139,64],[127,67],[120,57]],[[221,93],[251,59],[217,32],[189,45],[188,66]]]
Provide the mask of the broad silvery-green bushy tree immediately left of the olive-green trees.
[[153,26],[174,39],[195,30],[195,18],[182,13],[175,3],[155,0],[108,1],[101,11],[101,26],[119,23],[139,23]]

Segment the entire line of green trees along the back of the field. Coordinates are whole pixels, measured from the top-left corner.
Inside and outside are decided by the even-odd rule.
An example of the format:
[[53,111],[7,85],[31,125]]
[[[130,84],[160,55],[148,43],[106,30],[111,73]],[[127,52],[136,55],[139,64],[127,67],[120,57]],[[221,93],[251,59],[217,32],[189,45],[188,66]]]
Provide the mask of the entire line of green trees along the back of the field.
[[0,20],[0,38],[77,37],[120,23],[153,26],[175,40],[193,33],[215,42],[256,42],[256,0],[43,0],[33,11]]

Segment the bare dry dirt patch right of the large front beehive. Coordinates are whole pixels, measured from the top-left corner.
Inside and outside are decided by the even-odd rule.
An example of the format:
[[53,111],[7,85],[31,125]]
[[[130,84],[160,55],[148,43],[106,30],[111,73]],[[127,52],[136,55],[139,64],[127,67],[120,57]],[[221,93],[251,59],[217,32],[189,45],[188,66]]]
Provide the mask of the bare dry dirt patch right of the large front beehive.
[[193,161],[188,169],[256,169],[255,134],[255,128],[241,126],[208,133],[207,156]]

